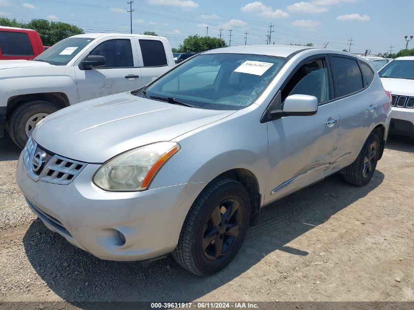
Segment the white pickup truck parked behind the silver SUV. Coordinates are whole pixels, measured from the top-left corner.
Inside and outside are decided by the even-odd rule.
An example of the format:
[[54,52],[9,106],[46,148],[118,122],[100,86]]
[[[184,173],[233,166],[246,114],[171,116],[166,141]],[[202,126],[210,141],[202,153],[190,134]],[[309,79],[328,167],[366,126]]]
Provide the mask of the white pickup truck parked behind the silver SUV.
[[73,36],[33,60],[2,60],[0,137],[6,127],[23,148],[36,123],[58,109],[140,88],[174,65],[167,39],[114,33]]

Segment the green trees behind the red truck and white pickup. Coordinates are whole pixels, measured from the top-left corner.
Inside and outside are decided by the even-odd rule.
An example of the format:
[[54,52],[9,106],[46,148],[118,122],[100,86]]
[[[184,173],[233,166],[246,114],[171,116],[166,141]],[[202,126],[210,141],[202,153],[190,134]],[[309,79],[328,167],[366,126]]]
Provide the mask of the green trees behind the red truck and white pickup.
[[49,22],[48,20],[43,19],[34,19],[28,24],[22,24],[16,21],[16,19],[10,20],[8,18],[0,18],[0,25],[36,30],[39,33],[43,44],[46,46],[52,46],[63,39],[84,33],[82,28],[75,25],[61,22]]

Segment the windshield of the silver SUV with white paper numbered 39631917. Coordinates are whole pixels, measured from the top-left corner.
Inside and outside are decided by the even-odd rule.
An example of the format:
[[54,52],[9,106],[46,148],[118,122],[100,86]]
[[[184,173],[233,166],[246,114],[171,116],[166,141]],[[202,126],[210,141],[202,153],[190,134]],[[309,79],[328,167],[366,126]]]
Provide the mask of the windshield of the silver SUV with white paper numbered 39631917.
[[197,108],[239,110],[259,97],[286,60],[250,54],[198,55],[138,94]]

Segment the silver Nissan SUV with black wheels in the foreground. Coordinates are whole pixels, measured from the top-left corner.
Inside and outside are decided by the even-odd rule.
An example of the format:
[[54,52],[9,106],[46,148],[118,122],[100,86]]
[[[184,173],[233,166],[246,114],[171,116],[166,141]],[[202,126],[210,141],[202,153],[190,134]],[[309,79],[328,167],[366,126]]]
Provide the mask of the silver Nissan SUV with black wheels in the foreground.
[[339,171],[366,185],[390,111],[365,59],[215,49],[42,120],[16,177],[31,210],[73,245],[116,261],[172,252],[208,275],[235,257],[263,206]]

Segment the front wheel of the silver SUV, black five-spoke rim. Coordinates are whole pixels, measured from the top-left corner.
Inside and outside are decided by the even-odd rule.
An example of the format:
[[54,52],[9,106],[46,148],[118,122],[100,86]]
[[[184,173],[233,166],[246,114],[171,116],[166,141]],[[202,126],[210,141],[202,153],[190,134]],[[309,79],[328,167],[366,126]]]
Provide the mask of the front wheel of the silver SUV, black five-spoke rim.
[[[225,211],[231,213],[233,210],[233,215],[226,217],[229,213]],[[239,252],[249,219],[250,200],[244,186],[228,178],[213,180],[195,199],[172,256],[196,275],[214,274],[227,266]],[[220,249],[219,244],[222,244],[222,253],[216,255],[220,252],[216,250]]]

